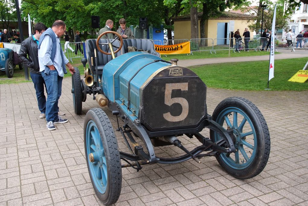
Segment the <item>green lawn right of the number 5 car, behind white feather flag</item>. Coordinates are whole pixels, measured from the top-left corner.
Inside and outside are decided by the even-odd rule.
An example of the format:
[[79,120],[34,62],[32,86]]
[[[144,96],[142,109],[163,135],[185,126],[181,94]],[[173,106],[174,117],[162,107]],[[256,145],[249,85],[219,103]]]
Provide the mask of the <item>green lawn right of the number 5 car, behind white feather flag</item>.
[[[275,60],[274,78],[270,80],[271,90],[308,90],[305,83],[288,81],[302,69],[307,58]],[[269,61],[249,61],[210,64],[190,67],[208,87],[237,90],[264,90],[267,88]]]

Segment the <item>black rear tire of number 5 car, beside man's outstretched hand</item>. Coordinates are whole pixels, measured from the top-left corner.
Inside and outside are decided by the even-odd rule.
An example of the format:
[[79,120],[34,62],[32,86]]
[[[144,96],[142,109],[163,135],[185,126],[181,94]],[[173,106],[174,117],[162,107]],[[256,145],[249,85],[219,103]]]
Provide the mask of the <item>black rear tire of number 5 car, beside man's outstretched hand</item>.
[[81,114],[82,112],[82,94],[81,94],[81,80],[80,73],[77,67],[72,75],[72,94],[73,94],[73,105],[75,114]]

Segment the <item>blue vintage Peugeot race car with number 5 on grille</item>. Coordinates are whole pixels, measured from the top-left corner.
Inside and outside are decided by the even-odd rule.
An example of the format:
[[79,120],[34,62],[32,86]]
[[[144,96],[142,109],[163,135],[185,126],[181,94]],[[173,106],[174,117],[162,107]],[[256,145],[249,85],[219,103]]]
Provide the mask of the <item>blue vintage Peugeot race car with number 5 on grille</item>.
[[[100,39],[108,33],[120,41]],[[229,97],[209,115],[205,83],[192,70],[177,65],[178,59],[161,59],[149,39],[122,39],[106,31],[98,39],[87,39],[85,53],[84,81],[78,68],[72,76],[75,113],[82,113],[82,102],[90,94],[116,118],[110,121],[100,108],[90,109],[84,117],[88,171],[103,204],[118,200],[121,168],[125,167],[138,172],[148,164],[190,159],[200,164],[204,157],[214,156],[226,172],[239,179],[252,178],[264,169],[270,155],[270,133],[251,101]],[[197,139],[194,145],[187,144],[193,138]],[[167,145],[177,154],[162,155]]]

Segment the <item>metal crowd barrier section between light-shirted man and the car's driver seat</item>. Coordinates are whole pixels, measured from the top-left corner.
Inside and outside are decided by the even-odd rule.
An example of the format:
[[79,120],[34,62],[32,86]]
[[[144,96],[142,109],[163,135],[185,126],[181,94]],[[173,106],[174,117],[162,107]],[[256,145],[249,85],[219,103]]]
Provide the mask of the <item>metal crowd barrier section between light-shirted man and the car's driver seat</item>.
[[85,52],[83,48],[83,43],[84,42],[69,42],[67,43],[67,47],[65,46],[65,44],[61,44],[61,48],[67,59],[73,62],[72,59],[74,58],[83,58],[83,52]]

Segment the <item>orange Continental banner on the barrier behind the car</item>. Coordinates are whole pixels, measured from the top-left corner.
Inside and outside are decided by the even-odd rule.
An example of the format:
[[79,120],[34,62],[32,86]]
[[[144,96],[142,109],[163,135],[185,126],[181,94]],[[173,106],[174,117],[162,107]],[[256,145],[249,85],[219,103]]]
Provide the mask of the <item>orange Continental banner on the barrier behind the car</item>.
[[183,42],[174,45],[154,45],[155,51],[160,54],[179,54],[179,53],[190,53],[190,42]]

